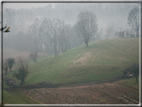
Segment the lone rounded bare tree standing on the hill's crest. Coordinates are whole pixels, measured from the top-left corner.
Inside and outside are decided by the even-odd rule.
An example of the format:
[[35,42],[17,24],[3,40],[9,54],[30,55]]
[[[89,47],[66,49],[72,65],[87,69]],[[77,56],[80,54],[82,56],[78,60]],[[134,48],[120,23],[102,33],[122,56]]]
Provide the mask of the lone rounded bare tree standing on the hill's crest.
[[89,39],[94,36],[98,30],[96,15],[90,11],[81,12],[78,15],[76,26],[78,36],[83,39],[88,47]]

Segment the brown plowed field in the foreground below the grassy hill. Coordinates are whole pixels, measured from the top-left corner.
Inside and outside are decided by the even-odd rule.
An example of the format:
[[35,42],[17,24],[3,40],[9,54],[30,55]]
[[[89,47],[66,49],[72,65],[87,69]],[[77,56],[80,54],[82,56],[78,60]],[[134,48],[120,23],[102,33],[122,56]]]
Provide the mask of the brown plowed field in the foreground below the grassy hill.
[[22,89],[23,94],[44,104],[138,104],[139,91],[120,83],[76,87]]

